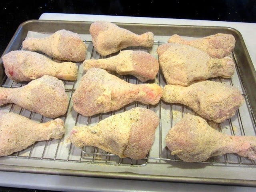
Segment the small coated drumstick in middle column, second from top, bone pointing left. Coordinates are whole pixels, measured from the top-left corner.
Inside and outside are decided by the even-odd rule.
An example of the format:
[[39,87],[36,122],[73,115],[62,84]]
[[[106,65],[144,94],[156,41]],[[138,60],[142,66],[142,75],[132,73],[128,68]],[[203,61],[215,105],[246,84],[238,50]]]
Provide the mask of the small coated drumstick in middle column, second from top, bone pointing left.
[[154,79],[159,70],[156,58],[144,51],[124,50],[118,55],[106,59],[84,60],[84,71],[90,68],[102,68],[115,71],[120,75],[133,75],[142,82]]

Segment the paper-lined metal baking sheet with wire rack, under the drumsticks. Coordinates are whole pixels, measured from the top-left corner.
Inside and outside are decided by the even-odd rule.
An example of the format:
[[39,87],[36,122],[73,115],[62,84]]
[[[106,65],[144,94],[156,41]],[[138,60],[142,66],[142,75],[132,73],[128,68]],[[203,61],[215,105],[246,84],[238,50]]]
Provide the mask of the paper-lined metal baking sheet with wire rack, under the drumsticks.
[[[86,59],[102,58],[93,48],[89,34],[90,24],[91,22],[29,20],[18,27],[4,51],[4,54],[11,50],[22,50],[22,41],[26,37],[48,36],[57,30],[66,29],[80,34],[87,47]],[[212,122],[210,122],[210,124],[225,134],[256,135],[254,116],[256,102],[254,99],[255,91],[253,89],[253,87],[256,86],[256,73],[243,38],[237,30],[227,27],[211,26],[117,24],[137,34],[148,31],[153,32],[155,43],[152,48],[129,47],[126,49],[143,50],[149,52],[156,58],[158,58],[156,48],[160,44],[166,43],[172,34],[178,34],[187,39],[204,37],[216,33],[234,35],[236,38],[236,46],[232,53],[232,57],[236,63],[236,73],[234,77],[230,79],[212,78],[211,80],[236,86],[244,95],[246,103],[239,108],[233,118],[226,120],[222,124],[214,124]],[[110,56],[113,55],[115,54]],[[0,64],[2,66],[2,70],[0,70],[2,87],[15,88],[24,85],[12,82],[10,79],[6,78],[2,59],[0,60]],[[80,78],[84,74],[82,71],[82,63],[77,63],[77,66],[79,74],[78,80],[75,82],[64,81],[66,93],[69,98],[71,98],[72,93],[78,86]],[[142,84],[142,82],[132,76],[119,77],[130,83]],[[158,73],[156,79],[150,82],[157,83],[162,87],[166,84],[161,71]],[[155,142],[147,158],[142,160],[119,158],[114,154],[109,154],[98,148],[76,148],[65,141],[74,125],[92,125],[110,115],[137,106],[150,108],[160,117],[160,124],[155,134]],[[38,122],[51,120],[50,118],[45,118],[19,108],[14,104],[2,106],[0,110],[16,112]],[[84,117],[77,114],[72,109],[72,102],[70,102],[66,115],[60,117],[65,121],[66,132],[64,138],[36,142],[33,146],[25,150],[10,156],[1,157],[0,170],[135,180],[256,186],[256,176],[254,174],[256,170],[255,162],[236,154],[226,154],[210,158],[206,162],[197,163],[183,162],[176,156],[170,155],[170,151],[166,148],[164,138],[169,129],[187,112],[193,113],[192,110],[186,106],[168,104],[163,101],[160,101],[160,103],[155,106],[147,106],[139,102],[134,102],[114,112]]]

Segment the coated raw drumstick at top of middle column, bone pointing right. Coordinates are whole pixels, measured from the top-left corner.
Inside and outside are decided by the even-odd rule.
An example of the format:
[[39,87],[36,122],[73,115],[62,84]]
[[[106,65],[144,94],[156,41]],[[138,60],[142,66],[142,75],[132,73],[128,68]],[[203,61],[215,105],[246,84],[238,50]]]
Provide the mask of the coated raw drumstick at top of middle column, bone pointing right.
[[154,34],[152,32],[137,35],[106,21],[92,23],[90,34],[92,35],[94,48],[102,56],[118,52],[129,46],[152,47],[154,44]]

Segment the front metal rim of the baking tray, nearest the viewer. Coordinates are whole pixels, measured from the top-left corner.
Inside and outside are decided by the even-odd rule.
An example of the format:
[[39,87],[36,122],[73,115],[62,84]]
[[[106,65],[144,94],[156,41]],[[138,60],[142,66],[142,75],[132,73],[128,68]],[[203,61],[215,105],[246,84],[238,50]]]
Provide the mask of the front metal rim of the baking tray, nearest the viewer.
[[0,166],[1,171],[6,172],[22,172],[33,174],[51,174],[62,176],[81,176],[93,178],[112,178],[112,179],[128,179],[128,180],[144,180],[144,181],[158,181],[158,182],[180,182],[180,183],[197,183],[197,184],[218,184],[229,186],[248,186],[255,187],[255,180],[241,180],[241,179],[226,179],[226,178],[199,178],[199,177],[185,177],[185,176],[164,176],[164,175],[147,175],[135,174],[132,172],[98,172],[98,171],[84,171],[84,170],[67,170],[60,168],[40,168],[29,166]]

